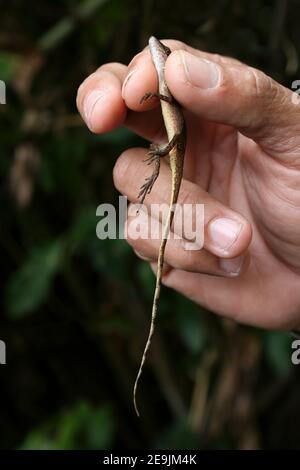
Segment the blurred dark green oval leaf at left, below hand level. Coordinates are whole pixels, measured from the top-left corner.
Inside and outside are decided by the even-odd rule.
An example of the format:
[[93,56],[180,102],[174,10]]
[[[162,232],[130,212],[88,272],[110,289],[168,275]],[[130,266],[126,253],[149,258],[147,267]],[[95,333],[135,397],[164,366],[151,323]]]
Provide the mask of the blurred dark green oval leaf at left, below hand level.
[[6,290],[6,305],[12,318],[33,312],[46,298],[63,257],[64,244],[55,240],[33,248]]

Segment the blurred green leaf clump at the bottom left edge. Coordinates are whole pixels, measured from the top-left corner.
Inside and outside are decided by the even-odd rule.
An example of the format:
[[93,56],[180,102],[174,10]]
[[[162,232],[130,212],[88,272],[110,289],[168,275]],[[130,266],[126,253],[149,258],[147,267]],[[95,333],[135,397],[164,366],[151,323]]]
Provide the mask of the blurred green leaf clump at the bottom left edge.
[[81,402],[32,431],[21,449],[109,449],[114,435],[115,419],[111,407],[94,408]]

